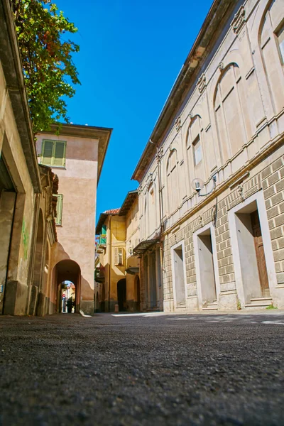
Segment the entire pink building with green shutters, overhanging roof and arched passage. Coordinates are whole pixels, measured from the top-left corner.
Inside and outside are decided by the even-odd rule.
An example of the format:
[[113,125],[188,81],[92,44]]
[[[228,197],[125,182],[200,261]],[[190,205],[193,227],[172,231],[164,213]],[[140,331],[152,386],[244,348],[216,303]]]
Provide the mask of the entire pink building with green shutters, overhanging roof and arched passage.
[[59,178],[56,231],[50,253],[48,313],[60,312],[62,283],[75,285],[75,312],[94,313],[94,241],[97,184],[111,129],[62,124],[37,137],[38,163]]

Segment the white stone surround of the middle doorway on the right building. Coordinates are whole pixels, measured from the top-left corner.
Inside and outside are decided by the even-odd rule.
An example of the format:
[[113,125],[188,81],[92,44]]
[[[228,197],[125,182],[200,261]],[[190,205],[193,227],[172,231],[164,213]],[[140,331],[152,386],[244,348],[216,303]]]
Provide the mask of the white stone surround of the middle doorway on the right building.
[[200,278],[200,253],[199,253],[199,250],[198,250],[197,238],[204,231],[207,231],[207,229],[210,229],[210,231],[211,231],[213,266],[214,266],[214,274],[215,274],[217,302],[219,300],[219,294],[221,292],[220,280],[219,280],[219,268],[218,268],[215,228],[214,228],[214,225],[212,224],[212,222],[209,222],[209,224],[202,226],[202,228],[198,229],[193,234],[193,246],[194,246],[194,250],[195,250],[195,271],[196,271],[196,283],[197,283],[197,298],[198,298],[198,304],[199,304],[201,309],[202,309],[202,285],[201,285],[201,278]]

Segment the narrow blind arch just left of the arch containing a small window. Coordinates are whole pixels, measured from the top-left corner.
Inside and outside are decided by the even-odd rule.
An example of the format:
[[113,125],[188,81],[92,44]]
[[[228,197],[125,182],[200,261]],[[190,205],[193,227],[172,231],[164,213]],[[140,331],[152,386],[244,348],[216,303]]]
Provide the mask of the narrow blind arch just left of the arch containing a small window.
[[179,206],[178,155],[175,149],[170,151],[167,164],[169,212],[173,213]]

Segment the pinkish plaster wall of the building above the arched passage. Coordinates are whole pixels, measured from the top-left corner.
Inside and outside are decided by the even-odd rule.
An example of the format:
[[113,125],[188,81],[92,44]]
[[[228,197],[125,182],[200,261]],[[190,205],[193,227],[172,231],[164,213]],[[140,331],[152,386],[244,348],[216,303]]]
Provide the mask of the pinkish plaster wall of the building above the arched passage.
[[[53,168],[59,178],[58,193],[63,195],[63,207],[62,226],[57,226],[58,243],[53,246],[50,267],[54,268],[59,261],[65,259],[71,259],[80,266],[81,305],[84,305],[87,312],[94,312],[94,235],[99,141],[41,133],[37,141],[38,155],[41,154],[43,139],[66,141],[65,168]],[[53,299],[55,295],[56,292],[53,292]]]

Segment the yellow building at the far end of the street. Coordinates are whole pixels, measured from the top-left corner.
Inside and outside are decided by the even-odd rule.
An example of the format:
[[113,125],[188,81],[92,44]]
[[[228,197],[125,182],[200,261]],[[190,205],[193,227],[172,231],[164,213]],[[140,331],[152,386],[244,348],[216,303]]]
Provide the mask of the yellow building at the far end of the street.
[[140,262],[133,256],[139,242],[138,191],[130,191],[120,209],[100,214],[96,227],[97,312],[141,310]]

